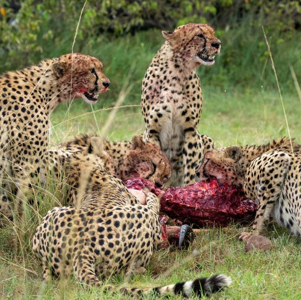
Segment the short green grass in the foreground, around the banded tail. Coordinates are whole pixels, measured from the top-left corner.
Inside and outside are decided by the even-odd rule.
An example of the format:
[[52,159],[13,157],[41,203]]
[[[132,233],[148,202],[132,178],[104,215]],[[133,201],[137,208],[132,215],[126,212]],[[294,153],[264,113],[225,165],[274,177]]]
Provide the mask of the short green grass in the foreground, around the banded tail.
[[[235,237],[239,231],[236,226],[204,231],[193,245],[199,253],[193,255],[192,250],[179,252],[172,249],[157,251],[147,272],[132,276],[127,286],[154,287],[226,273],[232,277],[232,285],[209,299],[300,299],[300,243],[279,228],[271,227],[270,230],[268,237],[276,245],[275,249],[247,254],[244,244]],[[41,269],[38,261],[29,251],[24,257],[25,267],[34,273],[24,271],[23,258],[2,253],[1,260],[5,260],[0,266],[1,298],[130,299],[124,295],[102,294],[101,289],[87,291],[73,279],[67,282],[53,280],[44,286],[39,280]],[[115,286],[126,284],[122,276],[112,277],[108,283]]]

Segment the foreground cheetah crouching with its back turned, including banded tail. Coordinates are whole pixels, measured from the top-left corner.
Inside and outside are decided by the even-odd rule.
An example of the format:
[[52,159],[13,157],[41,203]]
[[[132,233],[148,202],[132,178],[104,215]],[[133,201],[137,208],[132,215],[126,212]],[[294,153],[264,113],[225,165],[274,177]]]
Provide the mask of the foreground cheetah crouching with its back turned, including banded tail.
[[[95,155],[75,153],[63,158],[62,164],[70,169],[70,185],[79,186],[86,175],[88,181],[82,187],[79,208],[54,207],[36,229],[31,244],[42,259],[43,280],[51,273],[74,274],[86,285],[101,286],[98,275],[143,271],[154,247],[162,242],[159,199],[147,193],[147,204],[139,204],[120,179],[99,168]],[[154,289],[122,291],[189,296],[210,294],[230,283],[229,277],[215,275]]]

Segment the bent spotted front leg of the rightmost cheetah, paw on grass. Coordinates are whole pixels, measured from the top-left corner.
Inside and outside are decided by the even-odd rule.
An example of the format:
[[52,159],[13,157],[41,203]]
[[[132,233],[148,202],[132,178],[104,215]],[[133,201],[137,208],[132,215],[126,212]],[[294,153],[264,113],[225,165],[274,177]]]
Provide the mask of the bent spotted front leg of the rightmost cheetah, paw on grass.
[[271,152],[254,159],[247,168],[244,190],[258,203],[258,210],[251,232],[239,234],[246,242],[251,235],[260,235],[268,226],[270,215],[282,194],[290,157],[284,152]]

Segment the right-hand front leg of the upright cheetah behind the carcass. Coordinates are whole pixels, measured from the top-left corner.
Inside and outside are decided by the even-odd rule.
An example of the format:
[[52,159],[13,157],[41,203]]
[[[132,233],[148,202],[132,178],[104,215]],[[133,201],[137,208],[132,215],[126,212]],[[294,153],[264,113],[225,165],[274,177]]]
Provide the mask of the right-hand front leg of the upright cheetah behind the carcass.
[[184,185],[195,182],[196,163],[200,150],[198,146],[198,137],[197,131],[193,127],[184,130],[182,152],[184,164]]

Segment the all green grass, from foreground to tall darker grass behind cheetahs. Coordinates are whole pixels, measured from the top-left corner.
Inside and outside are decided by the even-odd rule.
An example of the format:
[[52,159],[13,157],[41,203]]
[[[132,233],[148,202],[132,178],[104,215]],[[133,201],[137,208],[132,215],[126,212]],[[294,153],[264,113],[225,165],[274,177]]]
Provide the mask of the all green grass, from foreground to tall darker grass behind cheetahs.
[[[225,46],[228,50],[224,53],[231,50],[231,45],[237,41],[242,32],[244,32],[243,29],[238,31],[232,40],[228,39],[228,46]],[[73,101],[69,111],[69,103],[61,104],[51,115],[51,122],[54,126],[51,143],[63,141],[77,133],[101,131],[106,124],[109,112],[82,115],[91,112],[92,109],[95,111],[114,105],[133,63],[135,63],[135,71],[131,77],[133,88],[126,97],[125,104],[139,105],[141,80],[161,43],[160,33],[151,31],[141,32],[135,37],[126,36],[110,44],[99,44],[97,47],[95,43],[88,44],[83,52],[104,60],[104,72],[112,82],[111,90],[106,94],[101,94],[98,104],[93,107],[81,99]],[[297,38],[296,43],[299,43]],[[227,42],[225,44],[227,45]],[[270,70],[267,71],[268,73],[263,72],[261,79],[264,61],[259,63],[260,60],[258,60],[257,65],[256,63],[252,65],[253,54],[256,53],[255,44],[256,42],[252,44],[253,52],[246,53],[247,58],[240,53],[237,61],[232,61],[236,68],[235,80],[233,80],[235,72],[231,73],[229,77],[232,78],[231,80],[225,79],[227,73],[222,69],[222,62],[225,62],[225,58],[223,60],[217,58],[216,66],[213,68],[201,67],[199,69],[203,87],[203,113],[199,130],[211,136],[216,147],[231,144],[262,144],[275,137],[287,135],[276,84],[270,77],[271,72]],[[276,52],[280,53],[283,49],[282,45],[279,47]],[[300,55],[295,53],[297,49],[299,48],[292,47],[287,51],[293,56],[295,66],[300,66]],[[57,53],[53,53],[53,56],[62,54],[63,50],[66,49],[56,48],[54,52]],[[293,87],[290,74],[285,72],[286,67],[288,68],[287,62],[284,62],[283,57],[277,57],[277,59],[275,60],[276,69],[279,67],[282,73],[280,81],[286,74],[285,80],[280,84],[284,85],[283,99],[290,133],[298,143],[301,143],[300,99],[297,93],[290,89],[290,84],[287,84],[290,82]],[[247,66],[250,67],[248,72],[245,71]],[[268,67],[270,67],[269,63],[266,68]],[[253,74],[254,80],[250,80],[252,78],[250,74]],[[246,78],[249,78],[249,81],[246,81]],[[244,84],[240,84],[240,81],[244,81]],[[111,124],[107,138],[116,141],[130,139],[134,133],[142,133],[143,128],[144,121],[139,107],[120,109]],[[57,203],[54,204],[56,202],[54,199],[59,198],[55,185],[51,187],[51,192],[54,196],[46,197],[37,216],[42,216],[49,208],[57,205]],[[118,294],[104,295],[101,289],[87,291],[73,279],[67,282],[53,280],[49,285],[44,286],[40,280],[39,260],[29,247],[29,238],[39,222],[37,216],[31,215],[32,219],[20,228],[25,232],[25,238],[21,239],[22,247],[18,246],[18,249],[15,246],[20,243],[13,229],[0,229],[0,298],[47,300],[129,298]],[[233,284],[210,299],[301,299],[299,240],[289,235],[284,229],[272,226],[268,237],[275,244],[275,249],[266,253],[245,253],[244,244],[236,238],[239,231],[242,231],[239,225],[203,231],[197,236],[193,245],[193,249],[198,250],[196,255],[192,255],[193,249],[183,252],[161,249],[152,257],[147,273],[131,277],[127,284],[130,287],[145,288],[226,273],[232,277]],[[187,261],[188,257],[190,259]],[[124,281],[122,276],[118,276],[110,278],[109,283],[120,286],[124,284]],[[151,297],[145,298],[151,299]]]

